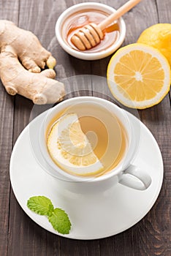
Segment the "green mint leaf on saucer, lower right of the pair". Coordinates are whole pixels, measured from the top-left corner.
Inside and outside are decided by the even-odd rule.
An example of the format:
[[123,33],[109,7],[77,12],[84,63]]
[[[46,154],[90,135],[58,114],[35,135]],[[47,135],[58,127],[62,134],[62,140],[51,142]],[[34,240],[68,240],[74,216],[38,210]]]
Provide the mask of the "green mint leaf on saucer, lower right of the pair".
[[55,208],[52,215],[48,217],[49,222],[58,233],[69,234],[71,222],[66,212],[60,208]]

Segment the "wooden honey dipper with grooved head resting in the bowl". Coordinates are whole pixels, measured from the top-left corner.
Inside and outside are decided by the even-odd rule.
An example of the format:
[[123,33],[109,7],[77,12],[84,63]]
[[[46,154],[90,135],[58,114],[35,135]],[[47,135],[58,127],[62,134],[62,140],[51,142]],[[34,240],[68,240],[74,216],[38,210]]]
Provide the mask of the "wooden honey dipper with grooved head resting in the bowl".
[[71,41],[73,45],[79,50],[89,50],[94,46],[98,45],[99,42],[104,38],[103,30],[107,28],[114,20],[120,18],[123,14],[132,9],[141,0],[129,0],[126,4],[123,4],[116,12],[108,16],[99,25],[90,23],[75,33]]

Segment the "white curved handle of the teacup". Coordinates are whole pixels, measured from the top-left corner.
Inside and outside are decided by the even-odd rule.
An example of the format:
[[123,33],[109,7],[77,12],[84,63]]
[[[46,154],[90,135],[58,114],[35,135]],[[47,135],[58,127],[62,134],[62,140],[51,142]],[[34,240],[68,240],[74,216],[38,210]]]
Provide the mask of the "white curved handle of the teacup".
[[118,177],[118,182],[126,187],[131,187],[132,189],[145,190],[151,185],[151,176],[139,167],[129,165],[129,167],[123,171],[121,176]]

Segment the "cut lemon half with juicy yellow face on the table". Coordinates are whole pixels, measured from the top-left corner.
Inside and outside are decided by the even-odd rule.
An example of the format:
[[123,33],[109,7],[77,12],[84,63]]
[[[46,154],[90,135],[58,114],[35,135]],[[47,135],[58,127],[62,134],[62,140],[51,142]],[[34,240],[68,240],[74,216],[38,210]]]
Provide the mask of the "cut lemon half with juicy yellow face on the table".
[[170,65],[155,48],[135,43],[118,50],[107,67],[113,96],[129,108],[149,108],[170,90]]

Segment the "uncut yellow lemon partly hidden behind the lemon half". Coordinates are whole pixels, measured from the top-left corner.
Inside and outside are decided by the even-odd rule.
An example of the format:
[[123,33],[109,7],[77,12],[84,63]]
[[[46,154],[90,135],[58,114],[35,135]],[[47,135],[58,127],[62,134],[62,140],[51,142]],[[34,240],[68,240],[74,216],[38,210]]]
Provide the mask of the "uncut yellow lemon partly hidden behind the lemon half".
[[169,61],[171,67],[171,24],[158,23],[145,29],[137,42],[157,48]]

